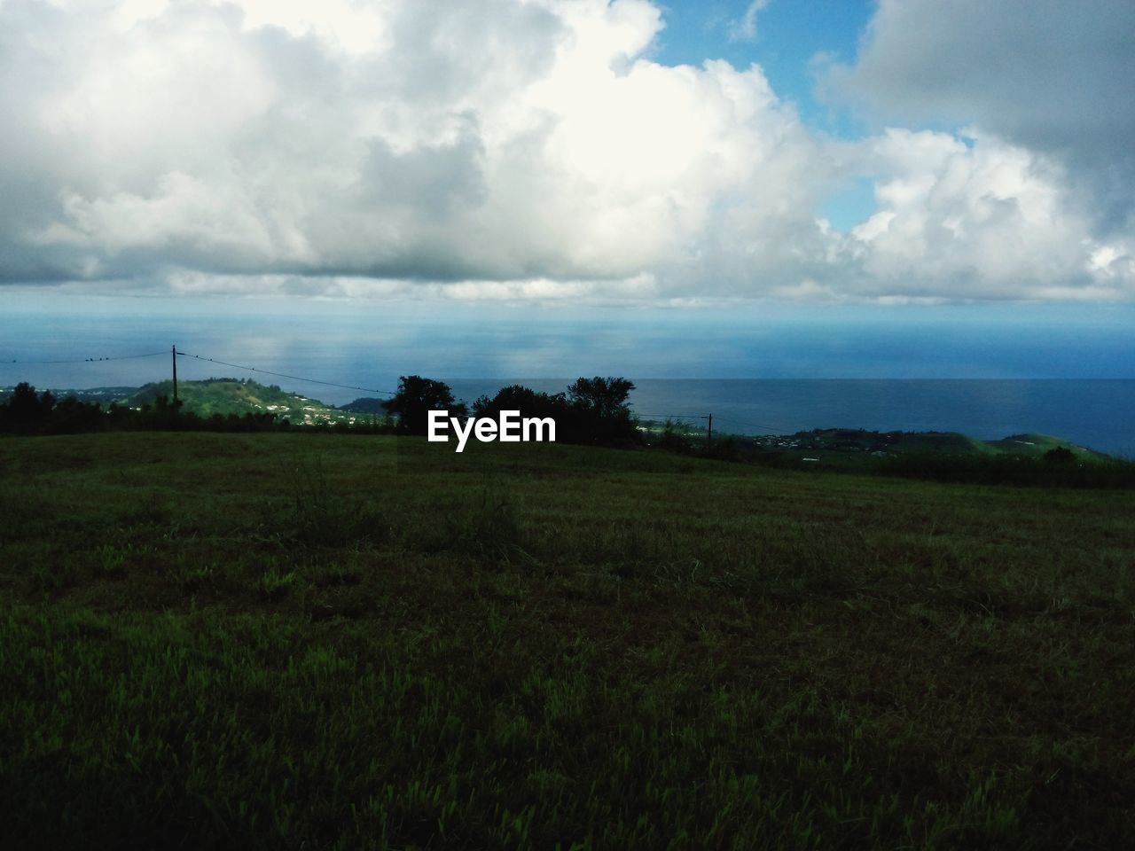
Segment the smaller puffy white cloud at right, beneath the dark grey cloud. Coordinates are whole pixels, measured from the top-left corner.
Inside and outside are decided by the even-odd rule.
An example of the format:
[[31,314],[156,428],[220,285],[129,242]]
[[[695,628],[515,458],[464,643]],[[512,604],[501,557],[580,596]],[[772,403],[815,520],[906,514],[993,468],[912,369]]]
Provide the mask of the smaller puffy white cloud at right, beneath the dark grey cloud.
[[993,137],[900,129],[863,153],[885,177],[878,211],[851,231],[849,251],[874,286],[1012,298],[1100,277],[1090,217],[1052,160]]

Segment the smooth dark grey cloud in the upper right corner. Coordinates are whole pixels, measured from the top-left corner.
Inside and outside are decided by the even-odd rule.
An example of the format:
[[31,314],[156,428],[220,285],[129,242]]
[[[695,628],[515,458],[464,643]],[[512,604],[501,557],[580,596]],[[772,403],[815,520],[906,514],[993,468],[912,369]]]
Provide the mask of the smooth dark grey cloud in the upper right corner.
[[975,125],[1059,157],[1099,226],[1129,228],[1133,42],[1130,0],[880,0],[823,87],[889,123]]

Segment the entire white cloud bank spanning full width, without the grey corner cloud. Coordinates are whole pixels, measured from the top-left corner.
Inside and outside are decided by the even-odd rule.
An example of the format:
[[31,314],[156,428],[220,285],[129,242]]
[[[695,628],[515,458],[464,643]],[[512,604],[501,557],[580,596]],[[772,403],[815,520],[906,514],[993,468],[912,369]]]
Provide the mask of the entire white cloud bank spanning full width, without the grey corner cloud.
[[[824,140],[757,66],[646,58],[663,26],[648,0],[5,0],[0,115],[19,132],[0,136],[0,280],[667,303],[1135,290],[1132,228],[1099,226],[1058,152],[978,130]],[[840,234],[816,210],[855,175],[878,210]]]

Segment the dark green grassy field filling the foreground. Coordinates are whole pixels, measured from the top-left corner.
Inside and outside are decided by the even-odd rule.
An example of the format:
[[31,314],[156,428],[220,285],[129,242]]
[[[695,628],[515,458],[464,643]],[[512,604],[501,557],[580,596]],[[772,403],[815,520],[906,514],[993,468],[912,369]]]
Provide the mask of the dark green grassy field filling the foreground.
[[1111,849],[1135,492],[0,440],[6,848]]

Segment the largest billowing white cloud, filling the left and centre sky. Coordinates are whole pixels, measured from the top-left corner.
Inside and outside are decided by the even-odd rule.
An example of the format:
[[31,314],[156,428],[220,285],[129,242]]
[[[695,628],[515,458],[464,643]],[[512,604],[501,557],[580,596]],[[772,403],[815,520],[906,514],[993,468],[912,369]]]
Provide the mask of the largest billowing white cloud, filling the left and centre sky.
[[[369,51],[340,49],[340,6],[312,8],[6,6],[26,24],[16,66],[51,66],[18,107],[54,151],[6,158],[39,170],[41,195],[10,236],[65,270],[94,253],[107,275],[165,256],[623,278],[682,258],[723,204],[777,214],[780,192],[746,192],[791,179],[787,136],[807,144],[759,69],[642,59],[662,26],[645,0],[388,2]],[[5,83],[9,99],[27,81]]]

